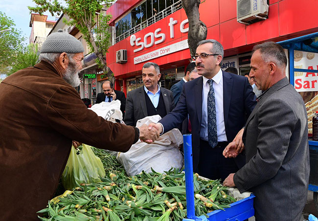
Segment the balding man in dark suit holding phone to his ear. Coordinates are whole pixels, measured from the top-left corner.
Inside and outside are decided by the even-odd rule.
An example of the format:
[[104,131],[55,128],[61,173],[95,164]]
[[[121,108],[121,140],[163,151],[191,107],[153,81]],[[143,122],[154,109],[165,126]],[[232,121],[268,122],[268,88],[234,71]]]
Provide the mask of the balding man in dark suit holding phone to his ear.
[[104,92],[97,94],[96,103],[120,100],[120,110],[123,113],[124,119],[126,108],[126,97],[124,92],[114,90],[114,84],[110,80],[105,80],[102,84],[102,88]]

